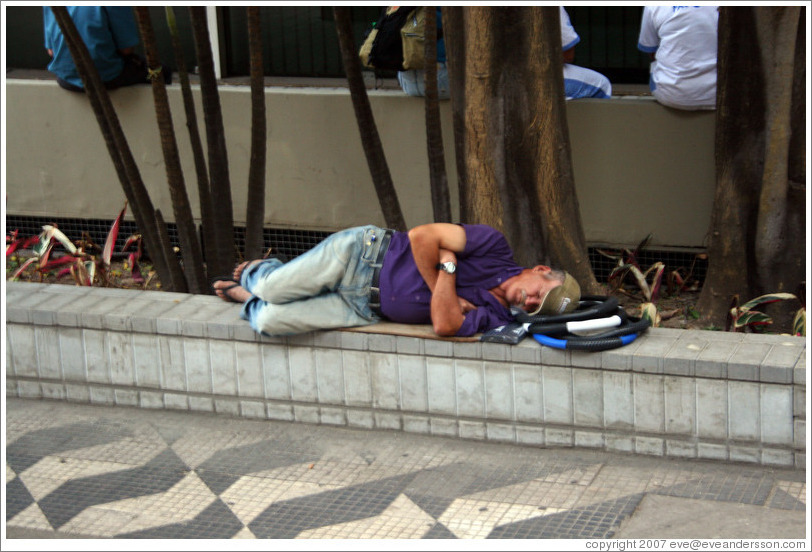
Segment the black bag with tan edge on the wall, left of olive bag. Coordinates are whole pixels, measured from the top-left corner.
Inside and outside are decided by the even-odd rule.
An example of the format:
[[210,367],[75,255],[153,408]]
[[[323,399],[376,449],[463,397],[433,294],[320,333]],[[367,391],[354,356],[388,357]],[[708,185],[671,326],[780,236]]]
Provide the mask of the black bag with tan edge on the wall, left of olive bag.
[[384,71],[403,71],[403,38],[400,29],[415,10],[415,6],[384,8],[369,29],[359,55],[370,68]]

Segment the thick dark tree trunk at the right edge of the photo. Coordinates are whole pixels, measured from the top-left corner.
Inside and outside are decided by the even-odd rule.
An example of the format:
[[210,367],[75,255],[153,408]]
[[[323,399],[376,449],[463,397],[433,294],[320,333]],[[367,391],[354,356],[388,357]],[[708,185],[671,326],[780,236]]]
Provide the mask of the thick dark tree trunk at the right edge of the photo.
[[805,164],[798,153],[804,138],[790,120],[803,102],[797,92],[805,76],[803,50],[795,44],[802,35],[799,11],[719,11],[716,193],[708,274],[697,304],[705,324],[723,327],[733,297],[744,302],[795,293],[804,279],[805,190],[789,181],[790,167],[798,174]]

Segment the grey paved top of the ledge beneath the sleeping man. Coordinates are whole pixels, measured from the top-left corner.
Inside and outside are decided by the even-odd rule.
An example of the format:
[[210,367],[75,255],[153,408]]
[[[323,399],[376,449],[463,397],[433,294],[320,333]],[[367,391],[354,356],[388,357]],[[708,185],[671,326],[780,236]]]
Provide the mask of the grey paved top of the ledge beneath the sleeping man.
[[363,328],[265,337],[240,318],[239,305],[211,295],[31,282],[6,282],[6,317],[9,324],[806,384],[806,339],[777,334],[651,328],[629,345],[597,353],[542,347],[532,338],[503,345],[365,332]]

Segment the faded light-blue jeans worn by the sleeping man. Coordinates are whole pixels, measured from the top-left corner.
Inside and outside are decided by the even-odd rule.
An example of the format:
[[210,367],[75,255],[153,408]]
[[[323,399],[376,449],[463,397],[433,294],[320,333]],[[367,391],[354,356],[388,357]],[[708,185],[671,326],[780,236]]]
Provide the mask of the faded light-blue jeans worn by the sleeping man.
[[359,226],[331,234],[289,263],[265,259],[243,270],[251,292],[242,318],[270,336],[374,324],[369,288],[384,230]]

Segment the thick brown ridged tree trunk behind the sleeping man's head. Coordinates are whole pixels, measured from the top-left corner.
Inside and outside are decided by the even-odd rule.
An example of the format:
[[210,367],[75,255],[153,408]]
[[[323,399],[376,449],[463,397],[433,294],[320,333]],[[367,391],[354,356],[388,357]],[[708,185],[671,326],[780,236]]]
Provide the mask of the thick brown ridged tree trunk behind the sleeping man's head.
[[501,230],[520,264],[564,268],[598,292],[572,173],[558,8],[449,11],[463,222]]

